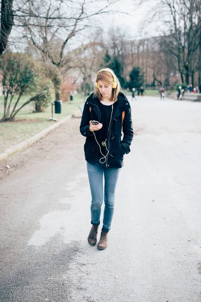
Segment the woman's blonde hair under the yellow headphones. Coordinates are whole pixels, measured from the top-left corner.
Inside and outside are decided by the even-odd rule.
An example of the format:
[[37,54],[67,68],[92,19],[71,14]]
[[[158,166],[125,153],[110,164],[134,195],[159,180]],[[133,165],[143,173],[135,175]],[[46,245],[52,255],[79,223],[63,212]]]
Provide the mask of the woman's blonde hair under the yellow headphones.
[[[96,74],[95,83],[98,81],[103,81],[108,85],[113,85],[114,82],[117,82],[117,87],[112,89],[111,97],[111,101],[114,99],[114,102],[116,102],[119,92],[122,92],[122,88],[115,72],[110,68],[100,69]],[[102,99],[102,94],[99,92],[99,89],[96,86],[94,97],[97,97],[99,100]]]

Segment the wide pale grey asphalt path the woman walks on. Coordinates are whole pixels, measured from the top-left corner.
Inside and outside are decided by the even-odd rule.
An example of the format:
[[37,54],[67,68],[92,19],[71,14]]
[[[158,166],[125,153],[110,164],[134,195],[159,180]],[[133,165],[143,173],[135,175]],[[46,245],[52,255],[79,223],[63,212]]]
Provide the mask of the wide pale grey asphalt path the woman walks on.
[[0,165],[0,301],[201,301],[201,103],[130,102],[105,251],[87,243],[80,118]]

